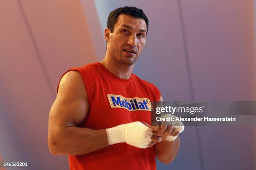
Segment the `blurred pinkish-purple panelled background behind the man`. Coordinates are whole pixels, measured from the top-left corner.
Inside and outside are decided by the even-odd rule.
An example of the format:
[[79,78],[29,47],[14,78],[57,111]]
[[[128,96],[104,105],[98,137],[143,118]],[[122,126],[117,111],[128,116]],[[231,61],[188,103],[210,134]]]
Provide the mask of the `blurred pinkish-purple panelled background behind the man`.
[[[108,14],[126,5],[149,18],[134,73],[164,100],[256,100],[254,0],[1,0],[0,160],[69,169],[47,145],[57,84],[102,60]],[[256,170],[255,126],[189,126],[180,139],[159,170]]]

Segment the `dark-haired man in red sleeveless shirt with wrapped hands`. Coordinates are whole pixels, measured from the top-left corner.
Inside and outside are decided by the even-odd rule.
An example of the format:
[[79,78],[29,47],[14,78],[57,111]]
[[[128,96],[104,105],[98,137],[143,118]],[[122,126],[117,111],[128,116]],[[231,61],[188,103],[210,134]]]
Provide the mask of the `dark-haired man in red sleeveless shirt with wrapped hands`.
[[180,131],[149,125],[160,91],[132,74],[147,32],[143,10],[114,10],[104,31],[105,58],[61,78],[48,143],[52,155],[69,155],[70,169],[156,169],[155,157],[170,163],[177,155]]

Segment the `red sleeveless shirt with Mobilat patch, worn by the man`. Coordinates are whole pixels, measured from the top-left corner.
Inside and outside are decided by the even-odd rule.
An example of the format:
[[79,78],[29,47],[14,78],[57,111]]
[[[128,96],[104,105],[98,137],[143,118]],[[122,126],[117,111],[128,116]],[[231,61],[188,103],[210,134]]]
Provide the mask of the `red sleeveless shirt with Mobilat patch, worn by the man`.
[[[121,79],[100,62],[70,70],[82,75],[90,105],[79,127],[97,130],[135,121],[151,124],[151,102],[161,95],[155,85],[134,74]],[[118,143],[84,155],[69,155],[69,166],[70,170],[155,170],[156,159],[154,147]]]

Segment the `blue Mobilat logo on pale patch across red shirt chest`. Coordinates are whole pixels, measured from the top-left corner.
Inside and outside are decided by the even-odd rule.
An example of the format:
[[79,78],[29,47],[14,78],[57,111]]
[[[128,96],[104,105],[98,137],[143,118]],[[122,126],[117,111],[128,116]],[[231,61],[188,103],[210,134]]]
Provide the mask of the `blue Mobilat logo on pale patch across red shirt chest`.
[[111,107],[123,108],[129,111],[151,111],[151,102],[147,98],[125,98],[121,95],[107,95]]

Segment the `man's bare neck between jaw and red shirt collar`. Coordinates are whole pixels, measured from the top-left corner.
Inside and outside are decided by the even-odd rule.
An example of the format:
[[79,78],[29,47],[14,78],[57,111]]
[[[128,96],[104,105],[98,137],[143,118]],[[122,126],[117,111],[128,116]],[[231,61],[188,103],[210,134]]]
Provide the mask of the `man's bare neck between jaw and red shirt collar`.
[[102,63],[114,75],[125,80],[128,80],[131,77],[131,73],[133,72],[134,67],[134,64],[130,66],[123,65],[115,61],[113,57],[110,57],[110,55],[107,54],[100,63]]

